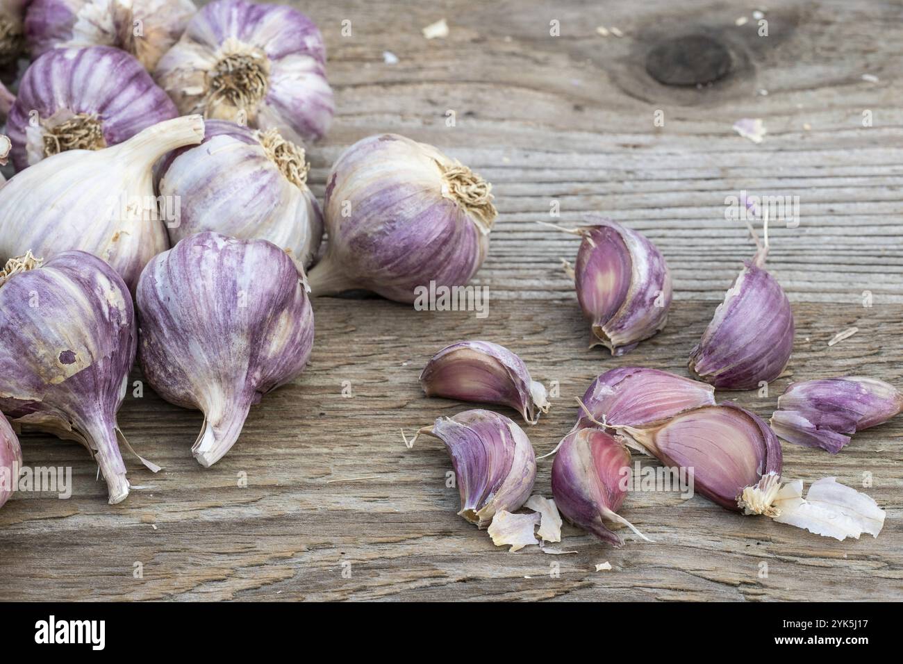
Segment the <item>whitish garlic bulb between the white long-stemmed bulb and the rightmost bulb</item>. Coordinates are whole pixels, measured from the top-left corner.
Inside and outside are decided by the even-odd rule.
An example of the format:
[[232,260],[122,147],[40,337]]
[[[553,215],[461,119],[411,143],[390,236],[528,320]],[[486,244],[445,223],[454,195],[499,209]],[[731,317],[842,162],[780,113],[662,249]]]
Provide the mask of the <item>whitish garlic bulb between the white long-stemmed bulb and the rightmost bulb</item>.
[[255,131],[224,120],[204,125],[203,143],[170,154],[158,172],[161,196],[181,201],[180,219],[169,226],[172,244],[214,230],[269,240],[310,266],[320,248],[323,218],[307,188],[303,148],[275,129]]

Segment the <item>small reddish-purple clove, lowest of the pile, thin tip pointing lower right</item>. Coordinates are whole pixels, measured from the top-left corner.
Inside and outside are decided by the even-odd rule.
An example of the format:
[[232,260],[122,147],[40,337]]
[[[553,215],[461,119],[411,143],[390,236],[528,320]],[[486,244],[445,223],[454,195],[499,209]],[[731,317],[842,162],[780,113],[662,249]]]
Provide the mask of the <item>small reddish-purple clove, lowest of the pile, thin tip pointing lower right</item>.
[[627,526],[648,539],[617,513],[630,485],[630,453],[600,429],[580,429],[566,435],[552,465],[555,505],[574,526],[603,542],[620,547],[619,534],[609,525]]

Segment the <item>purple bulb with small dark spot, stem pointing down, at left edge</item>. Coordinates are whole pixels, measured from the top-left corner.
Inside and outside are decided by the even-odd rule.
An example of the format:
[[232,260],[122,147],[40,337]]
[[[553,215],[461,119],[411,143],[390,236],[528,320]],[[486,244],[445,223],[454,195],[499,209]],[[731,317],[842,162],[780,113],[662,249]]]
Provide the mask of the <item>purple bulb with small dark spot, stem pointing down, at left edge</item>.
[[75,440],[97,460],[110,504],[128,495],[116,411],[135,361],[126,284],[98,257],[26,254],[0,271],[0,410],[19,426]]

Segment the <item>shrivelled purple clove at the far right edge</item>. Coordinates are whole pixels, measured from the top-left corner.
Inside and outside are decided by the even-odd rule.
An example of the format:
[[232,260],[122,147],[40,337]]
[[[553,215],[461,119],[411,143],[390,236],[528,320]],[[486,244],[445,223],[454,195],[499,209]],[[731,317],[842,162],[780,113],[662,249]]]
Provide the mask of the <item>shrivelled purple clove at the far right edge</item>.
[[771,428],[789,443],[837,454],[850,436],[903,412],[903,394],[883,380],[848,376],[792,383]]

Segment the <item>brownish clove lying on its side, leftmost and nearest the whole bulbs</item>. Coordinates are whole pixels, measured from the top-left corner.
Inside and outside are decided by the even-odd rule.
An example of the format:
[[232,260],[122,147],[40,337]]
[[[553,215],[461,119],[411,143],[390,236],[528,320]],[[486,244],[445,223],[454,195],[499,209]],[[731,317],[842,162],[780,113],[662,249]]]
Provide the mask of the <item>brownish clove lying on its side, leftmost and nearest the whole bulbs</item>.
[[427,397],[503,404],[535,425],[549,409],[542,383],[530,378],[524,360],[491,341],[459,341],[433,355],[420,374]]

